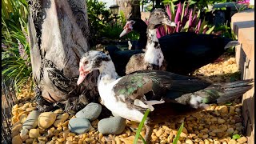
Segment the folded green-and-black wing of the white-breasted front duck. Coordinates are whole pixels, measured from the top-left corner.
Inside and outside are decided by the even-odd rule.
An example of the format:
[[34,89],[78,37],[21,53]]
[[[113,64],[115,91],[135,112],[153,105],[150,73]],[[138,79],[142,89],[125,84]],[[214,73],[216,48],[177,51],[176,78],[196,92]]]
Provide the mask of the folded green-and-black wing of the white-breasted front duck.
[[142,70],[122,77],[113,87],[118,100],[154,110],[153,105],[175,102],[182,94],[202,90],[210,83],[162,70]]

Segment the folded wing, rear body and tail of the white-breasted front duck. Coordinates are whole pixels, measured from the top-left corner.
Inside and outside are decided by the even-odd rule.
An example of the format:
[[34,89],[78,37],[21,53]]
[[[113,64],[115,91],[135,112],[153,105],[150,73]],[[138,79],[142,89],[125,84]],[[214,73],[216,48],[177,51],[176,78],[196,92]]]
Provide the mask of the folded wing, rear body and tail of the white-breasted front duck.
[[[162,70],[142,70],[126,75],[114,85],[118,100],[136,109],[154,110],[153,105],[198,109],[240,97],[252,88],[250,80],[210,84],[198,78]],[[183,108],[182,108],[183,109]],[[186,112],[186,109],[184,109]]]

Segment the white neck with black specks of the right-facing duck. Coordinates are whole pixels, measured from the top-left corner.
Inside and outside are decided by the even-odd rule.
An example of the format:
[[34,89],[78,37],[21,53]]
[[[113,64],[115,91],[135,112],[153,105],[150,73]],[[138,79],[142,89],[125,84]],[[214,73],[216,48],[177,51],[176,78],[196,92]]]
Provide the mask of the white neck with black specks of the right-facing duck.
[[162,66],[163,62],[162,50],[157,38],[157,29],[147,29],[147,42],[144,62]]

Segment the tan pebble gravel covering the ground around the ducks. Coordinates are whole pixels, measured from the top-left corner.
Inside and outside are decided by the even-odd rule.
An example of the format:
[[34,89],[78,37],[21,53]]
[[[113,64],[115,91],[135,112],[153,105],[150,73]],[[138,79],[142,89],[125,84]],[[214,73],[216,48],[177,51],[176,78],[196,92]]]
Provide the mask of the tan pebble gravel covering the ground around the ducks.
[[[206,79],[210,82],[230,82],[240,77],[234,56],[223,54],[222,62],[212,63],[198,69],[193,75],[198,78]],[[58,143],[58,144],[82,144],[82,143],[111,143],[111,144],[130,144],[134,140],[138,123],[126,120],[126,129],[118,135],[102,135],[98,132],[98,119],[91,122],[92,127],[89,132],[84,134],[74,134],[68,130],[68,122],[74,115],[68,114],[65,122],[52,125],[46,130],[36,127],[29,132],[22,131],[22,123],[27,115],[35,110],[34,93],[29,92],[26,86],[22,93],[18,95],[20,100],[12,110],[11,121],[13,143]],[[65,113],[62,110],[55,110],[55,114]],[[199,144],[238,144],[246,143],[246,137],[242,136],[244,127],[242,126],[242,105],[241,99],[236,99],[224,106],[211,105],[207,110],[189,115],[181,122],[164,122],[154,127],[152,143],[171,143],[177,134],[178,127],[184,122],[181,137],[178,143],[199,143]],[[145,129],[141,134],[144,136]],[[240,134],[241,138],[234,140],[232,135]],[[21,137],[22,135],[22,137]]]

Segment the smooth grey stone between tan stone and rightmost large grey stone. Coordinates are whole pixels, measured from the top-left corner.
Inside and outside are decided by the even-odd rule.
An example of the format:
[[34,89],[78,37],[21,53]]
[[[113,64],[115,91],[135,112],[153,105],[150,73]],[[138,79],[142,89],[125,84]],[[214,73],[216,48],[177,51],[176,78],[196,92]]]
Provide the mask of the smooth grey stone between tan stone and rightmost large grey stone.
[[91,125],[86,118],[71,118],[68,127],[71,132],[82,134],[88,132]]

